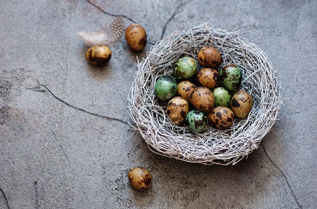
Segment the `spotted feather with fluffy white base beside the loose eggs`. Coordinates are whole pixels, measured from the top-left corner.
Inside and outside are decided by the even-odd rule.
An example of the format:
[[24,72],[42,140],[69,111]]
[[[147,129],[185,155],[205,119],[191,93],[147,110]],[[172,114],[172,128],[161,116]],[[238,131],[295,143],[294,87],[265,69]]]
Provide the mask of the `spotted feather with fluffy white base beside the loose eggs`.
[[78,32],[78,35],[85,41],[86,45],[112,45],[117,41],[124,31],[124,21],[121,18],[115,18],[105,30],[87,33]]

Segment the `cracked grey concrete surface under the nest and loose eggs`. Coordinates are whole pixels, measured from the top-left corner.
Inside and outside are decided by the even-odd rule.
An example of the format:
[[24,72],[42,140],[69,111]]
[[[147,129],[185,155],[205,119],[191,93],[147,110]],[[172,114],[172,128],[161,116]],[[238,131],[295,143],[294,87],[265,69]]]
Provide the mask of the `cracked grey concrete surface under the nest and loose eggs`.
[[[144,26],[146,49],[134,53],[122,37],[110,63],[94,67],[77,32],[116,15]],[[0,208],[317,208],[316,1],[3,0],[0,20]],[[289,98],[234,166],[153,154],[126,124],[136,56],[206,21],[244,28]],[[145,192],[126,177],[136,165],[153,175]]]

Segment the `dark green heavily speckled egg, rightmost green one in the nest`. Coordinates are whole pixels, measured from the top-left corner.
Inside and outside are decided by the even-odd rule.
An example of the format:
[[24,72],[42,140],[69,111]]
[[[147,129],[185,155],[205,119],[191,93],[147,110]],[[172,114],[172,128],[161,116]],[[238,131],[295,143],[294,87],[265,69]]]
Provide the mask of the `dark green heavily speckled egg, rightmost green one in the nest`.
[[229,91],[237,91],[241,85],[242,69],[236,65],[230,64],[224,66],[219,71],[221,85]]

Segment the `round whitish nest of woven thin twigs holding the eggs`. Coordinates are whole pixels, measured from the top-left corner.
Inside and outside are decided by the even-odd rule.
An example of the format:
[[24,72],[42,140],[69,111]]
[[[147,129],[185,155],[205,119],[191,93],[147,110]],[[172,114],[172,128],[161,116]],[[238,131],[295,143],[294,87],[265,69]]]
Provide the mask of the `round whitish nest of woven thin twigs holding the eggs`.
[[[253,107],[245,119],[234,119],[226,130],[210,126],[205,132],[192,133],[186,124],[176,126],[167,116],[166,106],[155,97],[158,76],[173,74],[174,64],[183,56],[197,61],[199,50],[213,46],[222,55],[223,63],[243,69],[240,90],[253,98]],[[197,62],[198,63],[198,62]],[[199,69],[203,66],[198,66]],[[265,53],[255,44],[207,23],[176,31],[151,47],[147,57],[138,64],[129,92],[129,114],[148,148],[164,156],[204,164],[235,164],[257,149],[273,126],[281,108],[281,84]]]

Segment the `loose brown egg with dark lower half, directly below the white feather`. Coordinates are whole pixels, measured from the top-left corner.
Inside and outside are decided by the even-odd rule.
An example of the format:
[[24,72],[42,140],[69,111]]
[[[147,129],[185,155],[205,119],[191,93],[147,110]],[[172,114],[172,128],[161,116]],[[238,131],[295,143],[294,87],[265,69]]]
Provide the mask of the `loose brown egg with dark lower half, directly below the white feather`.
[[94,65],[105,65],[111,59],[112,53],[107,46],[96,45],[86,52],[87,60]]

